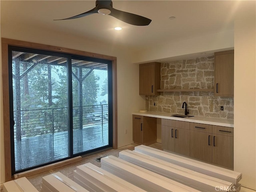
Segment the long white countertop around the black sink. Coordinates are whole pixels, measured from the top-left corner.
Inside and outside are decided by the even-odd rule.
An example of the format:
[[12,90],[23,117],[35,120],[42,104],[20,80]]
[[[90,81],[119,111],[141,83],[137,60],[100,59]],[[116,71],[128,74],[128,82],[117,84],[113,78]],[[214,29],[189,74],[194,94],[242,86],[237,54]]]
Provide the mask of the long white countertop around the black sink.
[[180,117],[173,117],[171,116],[172,114],[162,113],[162,112],[152,112],[152,111],[133,112],[132,114],[147,116],[147,117],[156,117],[156,118],[162,118],[162,119],[172,119],[172,120],[178,120],[178,121],[217,125],[217,126],[224,126],[224,127],[234,127],[234,120],[232,119],[202,117],[202,116],[180,118]]

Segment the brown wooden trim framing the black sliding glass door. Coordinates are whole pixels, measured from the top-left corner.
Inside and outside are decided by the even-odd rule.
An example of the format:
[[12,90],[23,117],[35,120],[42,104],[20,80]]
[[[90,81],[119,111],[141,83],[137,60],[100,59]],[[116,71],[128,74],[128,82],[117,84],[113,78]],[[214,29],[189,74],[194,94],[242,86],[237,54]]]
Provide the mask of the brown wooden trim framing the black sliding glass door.
[[10,106],[9,106],[9,76],[8,76],[8,46],[18,46],[22,48],[33,48],[38,50],[46,50],[73,54],[78,56],[86,56],[98,59],[112,61],[112,108],[113,108],[113,140],[112,147],[117,148],[117,58],[103,54],[91,53],[70,48],[51,46],[33,42],[26,42],[8,38],[1,38],[2,43],[2,86],[3,86],[3,114],[4,114],[4,160],[5,160],[5,182],[12,180],[11,169],[11,143],[10,143]]

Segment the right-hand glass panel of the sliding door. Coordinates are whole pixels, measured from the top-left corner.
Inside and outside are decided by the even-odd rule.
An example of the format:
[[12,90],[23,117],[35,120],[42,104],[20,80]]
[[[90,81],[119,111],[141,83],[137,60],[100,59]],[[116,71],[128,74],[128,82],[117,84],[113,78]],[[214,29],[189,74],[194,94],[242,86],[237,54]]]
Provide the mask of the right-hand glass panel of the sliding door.
[[109,145],[108,64],[72,59],[73,153]]

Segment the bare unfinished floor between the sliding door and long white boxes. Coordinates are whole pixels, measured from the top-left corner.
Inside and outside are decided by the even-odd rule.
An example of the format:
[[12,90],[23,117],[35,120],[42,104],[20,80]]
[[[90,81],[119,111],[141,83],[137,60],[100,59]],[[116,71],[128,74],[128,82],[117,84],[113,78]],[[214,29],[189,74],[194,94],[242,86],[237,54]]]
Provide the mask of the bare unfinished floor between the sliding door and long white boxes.
[[[136,144],[130,144],[130,145],[118,148],[116,150],[110,149],[110,150],[106,150],[104,152],[100,152],[100,153],[93,154],[93,155],[90,155],[90,156],[85,156],[85,157],[82,158],[82,160],[80,162],[75,162],[75,163],[72,163],[72,164],[69,164],[69,165],[66,165],[66,166],[62,166],[60,168],[52,169],[52,170],[49,170],[49,171],[42,172],[40,174],[29,176],[29,177],[27,177],[27,179],[36,187],[36,189],[38,191],[41,191],[42,177],[44,177],[46,175],[49,175],[49,174],[52,174],[52,173],[55,173],[55,172],[61,172],[62,174],[68,176],[68,178],[73,180],[73,170],[76,169],[76,166],[79,166],[79,165],[90,162],[90,163],[100,167],[101,166],[100,162],[96,161],[96,158],[100,158],[100,157],[108,156],[108,155],[113,155],[113,156],[118,157],[118,153],[120,151],[125,150],[125,149],[134,150],[135,146],[137,146],[137,145]],[[160,143],[155,143],[155,144],[150,145],[150,147],[161,149],[162,145]],[[2,192],[2,190],[1,190],[1,192]],[[242,187],[240,192],[256,192],[256,191]]]

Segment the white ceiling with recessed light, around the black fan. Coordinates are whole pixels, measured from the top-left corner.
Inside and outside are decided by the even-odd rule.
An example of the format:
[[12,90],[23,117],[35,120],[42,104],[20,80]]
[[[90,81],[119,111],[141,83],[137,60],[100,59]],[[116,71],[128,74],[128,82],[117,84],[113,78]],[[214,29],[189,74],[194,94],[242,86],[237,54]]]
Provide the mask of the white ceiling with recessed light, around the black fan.
[[[54,21],[81,14],[94,7],[94,0],[1,0],[1,26],[24,24],[97,41],[115,41],[140,49],[166,41],[233,30],[234,16],[240,11],[253,8],[246,1],[232,0],[114,0],[114,8],[150,18],[152,22],[148,26],[133,26],[101,14]],[[171,16],[176,19],[170,20]],[[116,26],[123,29],[116,31]]]

